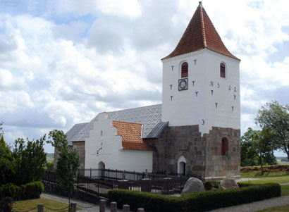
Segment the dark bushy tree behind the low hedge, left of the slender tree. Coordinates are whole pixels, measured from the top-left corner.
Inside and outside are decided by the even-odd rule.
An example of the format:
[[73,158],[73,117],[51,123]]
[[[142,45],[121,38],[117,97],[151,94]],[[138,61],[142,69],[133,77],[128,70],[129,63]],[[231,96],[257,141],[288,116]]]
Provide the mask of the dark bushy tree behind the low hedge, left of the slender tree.
[[14,183],[23,185],[28,182],[42,180],[45,173],[46,153],[44,152],[45,135],[36,141],[25,142],[18,138],[14,142],[13,158],[16,163]]

